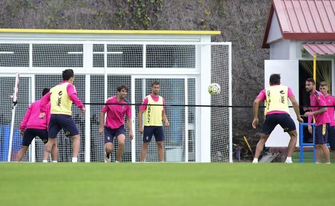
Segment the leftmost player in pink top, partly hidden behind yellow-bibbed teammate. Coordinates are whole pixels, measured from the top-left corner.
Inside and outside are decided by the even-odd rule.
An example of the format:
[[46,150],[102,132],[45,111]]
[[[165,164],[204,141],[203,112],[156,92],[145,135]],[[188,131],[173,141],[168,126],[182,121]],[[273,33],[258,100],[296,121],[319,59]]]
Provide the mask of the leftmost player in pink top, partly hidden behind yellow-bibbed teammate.
[[[44,88],[42,90],[42,97],[49,91],[49,88]],[[27,151],[31,141],[35,137],[39,137],[44,144],[48,142],[48,124],[50,120],[50,104],[46,105],[46,118],[40,119],[40,103],[41,100],[37,100],[30,104],[26,111],[26,115],[20,124],[20,132],[23,135],[22,147],[20,148],[19,153],[16,155],[16,161],[20,162],[23,158],[23,155]],[[51,149],[52,162],[57,162],[58,148],[57,142],[56,146],[53,146]]]

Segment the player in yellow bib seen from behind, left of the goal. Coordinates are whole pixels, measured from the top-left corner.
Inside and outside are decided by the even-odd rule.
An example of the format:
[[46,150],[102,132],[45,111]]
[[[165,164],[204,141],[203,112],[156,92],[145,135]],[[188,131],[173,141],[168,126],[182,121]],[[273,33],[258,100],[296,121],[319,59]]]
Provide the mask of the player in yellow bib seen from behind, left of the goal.
[[45,118],[46,105],[50,101],[51,116],[49,122],[49,141],[44,147],[43,162],[47,162],[51,148],[56,144],[58,132],[63,129],[67,137],[72,137],[72,162],[78,162],[78,153],[80,147],[80,134],[76,123],[72,118],[72,102],[85,114],[85,107],[77,97],[76,87],[73,85],[75,81],[72,69],[65,69],[62,73],[63,82],[52,87],[46,95],[43,96],[39,118]]

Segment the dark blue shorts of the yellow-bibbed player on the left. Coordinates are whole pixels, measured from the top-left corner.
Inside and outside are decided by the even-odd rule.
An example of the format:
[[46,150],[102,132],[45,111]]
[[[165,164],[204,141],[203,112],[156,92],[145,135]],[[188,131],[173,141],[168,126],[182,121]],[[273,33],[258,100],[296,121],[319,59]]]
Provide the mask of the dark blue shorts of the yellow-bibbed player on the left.
[[70,115],[51,114],[49,122],[49,138],[56,138],[63,129],[66,137],[79,135],[77,124]]

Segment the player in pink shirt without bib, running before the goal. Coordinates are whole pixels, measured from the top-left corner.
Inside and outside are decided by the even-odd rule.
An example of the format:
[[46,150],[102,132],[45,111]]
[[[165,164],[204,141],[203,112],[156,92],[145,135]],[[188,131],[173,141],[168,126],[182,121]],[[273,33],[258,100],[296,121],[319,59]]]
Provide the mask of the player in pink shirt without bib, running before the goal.
[[[104,133],[105,162],[111,161],[110,154],[113,151],[114,137],[117,139],[115,162],[120,162],[126,140],[125,115],[127,116],[130,140],[134,137],[131,126],[131,106],[129,105],[129,101],[125,99],[128,90],[128,86],[126,85],[118,86],[117,95],[110,97],[101,109],[99,134],[102,135]],[[119,103],[119,105],[112,103]],[[103,127],[105,113],[107,113],[107,118]]]

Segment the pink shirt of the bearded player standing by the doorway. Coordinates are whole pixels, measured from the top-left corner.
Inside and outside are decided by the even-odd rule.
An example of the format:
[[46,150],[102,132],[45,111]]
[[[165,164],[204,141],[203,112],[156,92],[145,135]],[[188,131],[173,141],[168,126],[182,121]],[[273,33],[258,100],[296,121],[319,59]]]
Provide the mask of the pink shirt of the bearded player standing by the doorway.
[[[311,106],[320,106],[320,107],[310,107],[310,110],[316,111],[322,108],[322,106],[327,106],[325,97],[322,95],[320,91],[316,91],[309,96]],[[328,107],[327,107],[328,110]],[[328,113],[322,113],[319,115],[314,115],[315,118],[315,125],[319,126],[324,123],[330,123],[330,118],[328,116]],[[308,116],[308,124],[312,122],[312,115]]]

